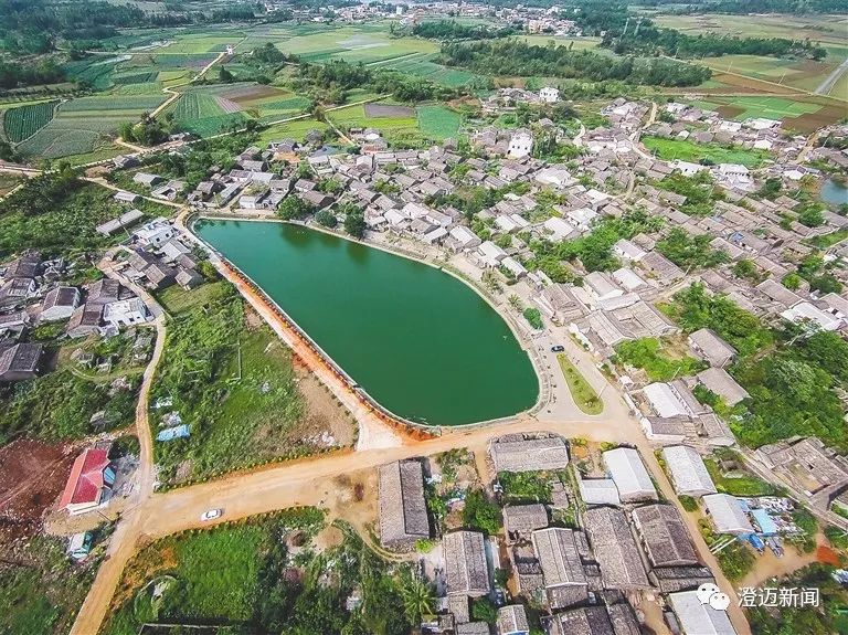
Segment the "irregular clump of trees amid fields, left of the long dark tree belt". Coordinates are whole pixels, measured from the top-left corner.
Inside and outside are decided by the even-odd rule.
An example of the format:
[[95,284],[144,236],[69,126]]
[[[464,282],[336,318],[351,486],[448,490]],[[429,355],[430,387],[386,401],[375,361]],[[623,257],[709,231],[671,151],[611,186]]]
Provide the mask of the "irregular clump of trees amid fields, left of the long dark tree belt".
[[458,94],[454,88],[439,86],[413,75],[341,61],[329,64],[300,64],[295,88],[307,92],[316,100],[327,104],[344,103],[346,92],[352,88],[392,94],[402,102],[451,99]]

